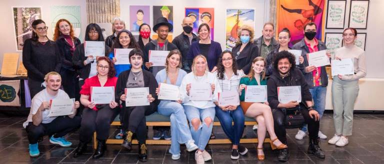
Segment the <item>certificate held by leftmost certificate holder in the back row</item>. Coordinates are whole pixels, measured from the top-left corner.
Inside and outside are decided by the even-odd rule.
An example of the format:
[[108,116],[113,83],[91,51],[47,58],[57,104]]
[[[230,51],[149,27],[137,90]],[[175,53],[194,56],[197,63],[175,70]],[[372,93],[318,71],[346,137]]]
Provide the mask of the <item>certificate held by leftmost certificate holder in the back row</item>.
[[84,41],[85,56],[105,56],[105,42],[103,41]]

